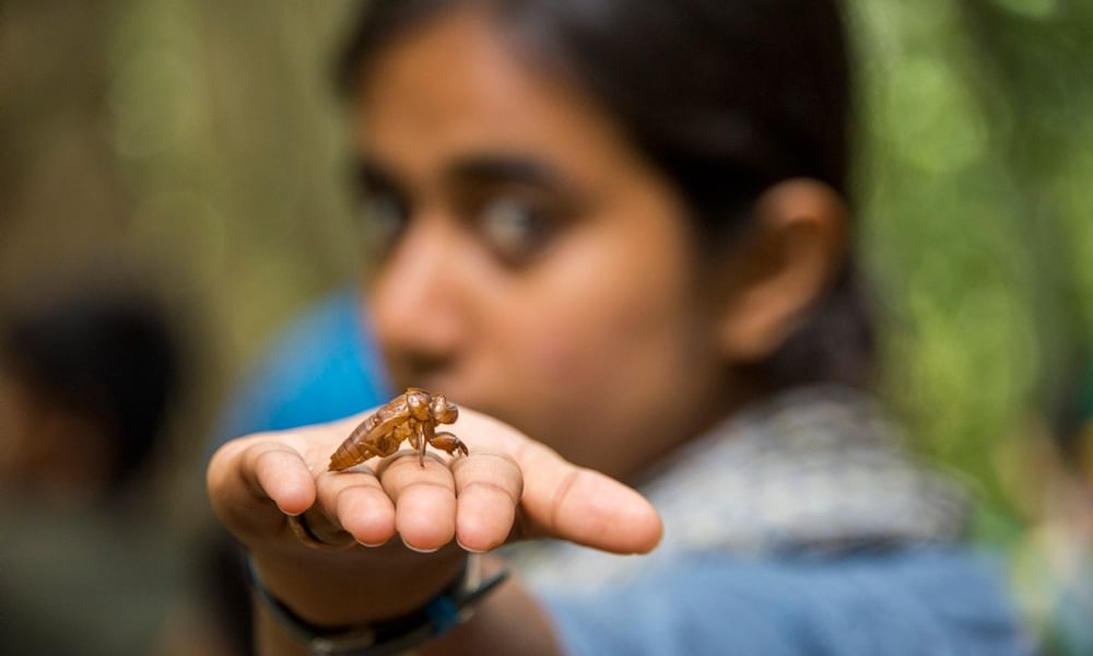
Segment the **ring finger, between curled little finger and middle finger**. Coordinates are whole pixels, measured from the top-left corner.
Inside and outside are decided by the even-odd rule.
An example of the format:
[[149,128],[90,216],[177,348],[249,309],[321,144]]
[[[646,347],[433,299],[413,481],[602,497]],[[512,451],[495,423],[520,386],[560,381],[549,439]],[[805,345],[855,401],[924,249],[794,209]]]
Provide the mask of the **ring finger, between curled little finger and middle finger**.
[[395,504],[368,467],[319,475],[319,504],[331,522],[366,547],[395,536]]

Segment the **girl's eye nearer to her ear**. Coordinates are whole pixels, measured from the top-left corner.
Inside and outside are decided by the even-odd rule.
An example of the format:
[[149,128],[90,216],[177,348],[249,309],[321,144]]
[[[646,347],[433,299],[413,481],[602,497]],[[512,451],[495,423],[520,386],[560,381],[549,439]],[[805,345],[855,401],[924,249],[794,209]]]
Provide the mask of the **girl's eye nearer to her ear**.
[[516,196],[497,196],[479,210],[483,237],[497,255],[521,262],[538,255],[553,236],[555,222],[539,203]]

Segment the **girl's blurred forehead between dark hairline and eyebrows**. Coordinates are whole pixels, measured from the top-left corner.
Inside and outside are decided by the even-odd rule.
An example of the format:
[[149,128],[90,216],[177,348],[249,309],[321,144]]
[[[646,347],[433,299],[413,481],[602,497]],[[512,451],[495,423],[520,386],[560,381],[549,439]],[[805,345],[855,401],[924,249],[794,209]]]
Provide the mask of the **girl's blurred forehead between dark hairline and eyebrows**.
[[644,168],[590,96],[516,57],[487,19],[468,11],[380,50],[360,101],[357,143],[408,175],[482,151],[539,155],[578,176]]

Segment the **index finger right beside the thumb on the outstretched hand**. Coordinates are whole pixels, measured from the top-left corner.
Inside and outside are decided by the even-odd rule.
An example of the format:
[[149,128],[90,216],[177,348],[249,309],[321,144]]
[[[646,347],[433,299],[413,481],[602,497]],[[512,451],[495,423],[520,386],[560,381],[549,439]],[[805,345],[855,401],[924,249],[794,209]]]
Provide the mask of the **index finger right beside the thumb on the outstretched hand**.
[[513,530],[524,476],[510,456],[475,449],[451,462],[456,482],[456,541],[468,551],[489,551]]

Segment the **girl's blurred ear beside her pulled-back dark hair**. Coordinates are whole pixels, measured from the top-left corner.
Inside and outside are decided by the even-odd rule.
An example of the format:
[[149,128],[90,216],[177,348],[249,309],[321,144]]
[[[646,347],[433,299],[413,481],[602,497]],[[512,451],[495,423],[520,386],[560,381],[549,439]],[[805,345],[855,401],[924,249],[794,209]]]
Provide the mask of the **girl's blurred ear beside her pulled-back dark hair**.
[[846,206],[809,178],[778,183],[760,197],[722,274],[718,339],[733,362],[773,353],[834,278],[846,251]]

